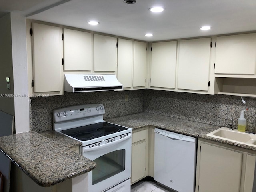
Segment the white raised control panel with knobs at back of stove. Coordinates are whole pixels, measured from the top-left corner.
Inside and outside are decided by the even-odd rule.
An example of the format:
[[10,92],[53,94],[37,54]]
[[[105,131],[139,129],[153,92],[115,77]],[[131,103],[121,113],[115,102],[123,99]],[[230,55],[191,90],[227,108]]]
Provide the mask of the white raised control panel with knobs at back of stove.
[[105,109],[102,104],[86,104],[54,109],[52,113],[53,122],[58,123],[82,118],[85,119],[93,116],[103,116],[103,114],[105,114]]

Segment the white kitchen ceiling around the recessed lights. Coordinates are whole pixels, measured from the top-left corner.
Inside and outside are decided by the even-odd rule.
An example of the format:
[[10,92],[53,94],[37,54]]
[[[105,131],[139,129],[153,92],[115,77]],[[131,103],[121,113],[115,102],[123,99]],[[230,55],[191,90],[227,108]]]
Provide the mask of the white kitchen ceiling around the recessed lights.
[[[130,5],[123,0],[9,0],[5,7],[12,11],[16,3],[26,15],[39,12],[30,19],[144,41],[256,31],[256,0],[137,0]],[[153,6],[165,10],[152,13],[148,9]],[[89,26],[89,20],[100,24]],[[200,30],[204,25],[212,29]]]

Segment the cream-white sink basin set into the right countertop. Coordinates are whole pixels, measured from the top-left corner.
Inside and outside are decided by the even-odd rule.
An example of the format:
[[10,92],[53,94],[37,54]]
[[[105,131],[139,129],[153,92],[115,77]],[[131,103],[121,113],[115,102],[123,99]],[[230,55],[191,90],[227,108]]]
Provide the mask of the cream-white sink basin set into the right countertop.
[[256,134],[240,132],[236,129],[221,127],[208,133],[207,136],[256,147]]

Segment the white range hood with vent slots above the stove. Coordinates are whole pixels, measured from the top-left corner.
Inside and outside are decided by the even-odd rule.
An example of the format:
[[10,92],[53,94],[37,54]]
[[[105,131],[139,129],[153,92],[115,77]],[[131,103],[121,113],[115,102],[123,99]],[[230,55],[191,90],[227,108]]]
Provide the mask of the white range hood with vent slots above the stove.
[[116,75],[64,74],[64,90],[67,92],[89,92],[122,90],[123,85]]

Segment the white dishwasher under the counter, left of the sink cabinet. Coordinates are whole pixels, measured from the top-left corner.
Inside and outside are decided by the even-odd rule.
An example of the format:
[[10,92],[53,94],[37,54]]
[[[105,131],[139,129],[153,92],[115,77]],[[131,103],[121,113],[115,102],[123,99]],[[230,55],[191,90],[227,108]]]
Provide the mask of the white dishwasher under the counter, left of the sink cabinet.
[[194,137],[155,128],[154,180],[178,192],[195,191]]

